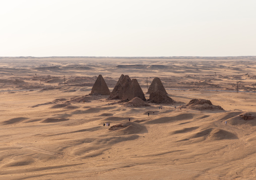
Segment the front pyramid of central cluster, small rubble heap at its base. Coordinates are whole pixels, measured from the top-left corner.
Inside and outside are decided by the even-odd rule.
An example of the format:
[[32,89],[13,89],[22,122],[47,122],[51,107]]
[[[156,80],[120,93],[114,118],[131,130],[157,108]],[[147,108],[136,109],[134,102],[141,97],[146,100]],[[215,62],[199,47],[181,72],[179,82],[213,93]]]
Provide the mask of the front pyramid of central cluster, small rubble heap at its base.
[[146,101],[145,95],[139,85],[137,79],[133,79],[127,90],[125,91],[122,100],[132,100],[135,97],[141,98],[143,101]]

